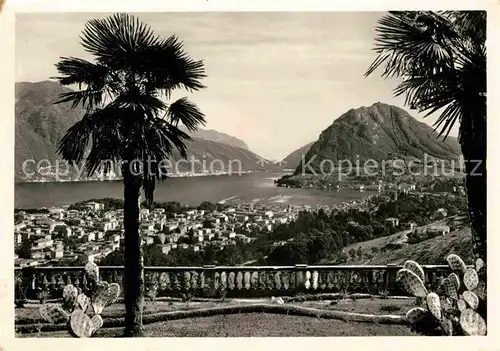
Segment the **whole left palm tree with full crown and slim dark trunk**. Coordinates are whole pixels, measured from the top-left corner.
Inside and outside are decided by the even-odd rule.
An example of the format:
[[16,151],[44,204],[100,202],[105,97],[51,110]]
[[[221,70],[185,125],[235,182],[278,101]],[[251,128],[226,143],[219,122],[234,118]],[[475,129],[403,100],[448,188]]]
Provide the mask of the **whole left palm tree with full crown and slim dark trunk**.
[[138,18],[114,14],[86,23],[80,36],[94,62],[63,57],[56,64],[62,85],[79,89],[56,103],[82,105],[81,121],[68,129],[58,153],[71,164],[84,164],[89,175],[120,164],[124,185],[125,336],[143,335],[144,271],[141,253],[140,193],[153,201],[155,181],[166,178],[167,160],[177,149],[186,156],[190,131],[205,123],[187,98],[171,103],[173,90],[204,88],[202,61],[195,61],[175,36],[163,39]]

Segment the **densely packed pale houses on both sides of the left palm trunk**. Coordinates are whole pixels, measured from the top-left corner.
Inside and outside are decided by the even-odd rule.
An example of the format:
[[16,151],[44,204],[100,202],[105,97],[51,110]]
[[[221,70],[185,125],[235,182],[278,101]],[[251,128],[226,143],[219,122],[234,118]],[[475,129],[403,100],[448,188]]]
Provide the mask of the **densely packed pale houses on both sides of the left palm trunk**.
[[[301,208],[239,204],[222,211],[189,208],[173,214],[165,208],[143,208],[142,240],[156,244],[164,254],[176,248],[196,252],[207,244],[223,249],[236,240],[255,240],[246,232],[292,221]],[[103,203],[90,201],[79,210],[64,206],[40,212],[17,213],[16,266],[99,262],[123,246],[123,209],[106,210]]]

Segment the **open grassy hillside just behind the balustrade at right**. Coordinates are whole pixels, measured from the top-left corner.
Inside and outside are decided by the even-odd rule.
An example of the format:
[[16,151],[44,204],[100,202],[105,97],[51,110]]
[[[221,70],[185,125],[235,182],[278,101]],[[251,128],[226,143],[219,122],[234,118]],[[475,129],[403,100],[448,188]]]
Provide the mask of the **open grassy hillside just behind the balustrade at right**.
[[[361,247],[364,252],[361,258],[349,257],[347,264],[403,264],[406,260],[414,260],[420,264],[446,264],[445,257],[451,253],[459,255],[470,264],[473,257],[471,241],[470,228],[465,228],[418,244],[402,244],[398,249],[382,249],[389,243],[401,243],[400,234],[394,234],[349,245],[344,251],[348,252],[351,248]],[[373,253],[372,247],[376,247],[378,252]],[[367,257],[367,254],[373,257]]]

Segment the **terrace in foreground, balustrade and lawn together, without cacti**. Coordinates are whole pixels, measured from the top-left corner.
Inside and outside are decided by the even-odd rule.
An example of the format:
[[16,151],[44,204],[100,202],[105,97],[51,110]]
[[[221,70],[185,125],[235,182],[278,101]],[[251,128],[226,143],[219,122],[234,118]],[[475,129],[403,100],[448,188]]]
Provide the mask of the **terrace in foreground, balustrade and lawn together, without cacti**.
[[[401,268],[146,267],[143,322],[149,336],[163,337],[414,335],[403,316],[416,301],[396,282]],[[423,269],[430,288],[450,273],[448,266]],[[101,266],[99,272],[101,279],[121,285],[123,267]],[[16,268],[15,276],[16,335],[68,337],[64,325],[44,324],[38,307],[60,301],[66,284],[88,288],[84,267]],[[281,303],[270,297],[282,297]],[[124,316],[120,297],[103,314],[97,336],[120,335]]]

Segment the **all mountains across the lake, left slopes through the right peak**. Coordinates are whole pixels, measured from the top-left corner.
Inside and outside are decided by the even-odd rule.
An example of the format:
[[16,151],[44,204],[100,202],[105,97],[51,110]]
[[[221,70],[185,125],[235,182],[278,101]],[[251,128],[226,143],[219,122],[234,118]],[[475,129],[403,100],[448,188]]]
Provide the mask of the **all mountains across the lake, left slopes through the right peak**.
[[[83,116],[82,108],[70,104],[54,105],[59,94],[70,91],[53,81],[16,83],[15,174],[16,181],[25,178],[23,162],[27,159],[60,160],[56,154],[59,141],[66,130]],[[355,161],[386,160],[395,156],[423,157],[424,153],[443,159],[460,154],[456,138],[442,141],[427,124],[417,121],[403,109],[384,103],[351,109],[326,128],[318,140],[304,145],[283,159],[281,167],[265,160],[248,149],[244,141],[215,130],[200,129],[190,133],[188,160],[181,161],[178,153],[171,158],[178,172],[256,171],[280,168],[301,171],[302,158],[314,168],[324,159]],[[214,161],[217,160],[217,161]],[[232,161],[232,162],[231,162]],[[222,167],[222,169],[221,169]],[[30,168],[33,169],[33,168]],[[50,178],[50,177],[49,177]]]

